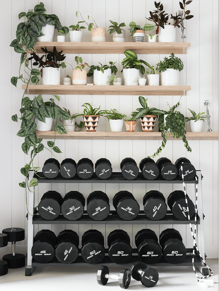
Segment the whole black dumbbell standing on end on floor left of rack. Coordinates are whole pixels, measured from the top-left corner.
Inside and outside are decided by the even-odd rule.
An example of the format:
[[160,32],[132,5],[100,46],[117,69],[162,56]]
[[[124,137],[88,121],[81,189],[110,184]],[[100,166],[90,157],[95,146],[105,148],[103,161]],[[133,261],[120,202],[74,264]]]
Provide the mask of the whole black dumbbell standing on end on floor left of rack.
[[19,227],[9,227],[3,229],[2,233],[7,234],[8,241],[12,242],[12,253],[4,255],[2,260],[8,262],[9,269],[25,266],[25,255],[22,253],[16,253],[16,242],[25,239],[24,229]]

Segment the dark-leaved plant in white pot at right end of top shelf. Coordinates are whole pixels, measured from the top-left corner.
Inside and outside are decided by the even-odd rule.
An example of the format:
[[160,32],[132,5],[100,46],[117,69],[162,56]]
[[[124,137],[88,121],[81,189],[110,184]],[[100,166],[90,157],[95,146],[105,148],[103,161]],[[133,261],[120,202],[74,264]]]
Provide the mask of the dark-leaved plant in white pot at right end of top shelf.
[[[164,13],[163,11],[163,4],[160,2],[154,2],[154,5],[157,10],[153,12],[150,11],[150,17],[146,18],[150,21],[153,21],[157,26],[156,34],[158,34],[158,41],[159,42],[175,42],[176,41],[176,30],[175,28],[183,26],[183,21],[185,19],[193,18],[194,15],[189,15],[190,10],[186,11],[186,5],[190,4],[192,1],[183,0],[183,3],[180,2],[180,8],[183,10],[183,15],[177,14],[173,16],[171,14],[170,19],[173,19],[173,25],[168,23],[169,15],[168,13]],[[183,27],[184,28],[184,27]],[[185,28],[184,28],[185,29]]]

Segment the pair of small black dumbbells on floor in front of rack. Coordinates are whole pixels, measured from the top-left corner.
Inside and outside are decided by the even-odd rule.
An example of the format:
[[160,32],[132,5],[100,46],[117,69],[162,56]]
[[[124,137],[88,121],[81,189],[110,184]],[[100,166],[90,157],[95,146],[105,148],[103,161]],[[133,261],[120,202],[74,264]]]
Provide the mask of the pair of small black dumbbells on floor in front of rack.
[[107,266],[100,266],[97,271],[97,282],[100,285],[106,285],[109,279],[119,280],[119,285],[123,289],[127,289],[130,285],[131,276],[137,281],[141,281],[146,287],[153,287],[159,280],[158,272],[153,268],[148,268],[145,263],[136,262],[130,270],[122,269],[119,275],[110,275]]

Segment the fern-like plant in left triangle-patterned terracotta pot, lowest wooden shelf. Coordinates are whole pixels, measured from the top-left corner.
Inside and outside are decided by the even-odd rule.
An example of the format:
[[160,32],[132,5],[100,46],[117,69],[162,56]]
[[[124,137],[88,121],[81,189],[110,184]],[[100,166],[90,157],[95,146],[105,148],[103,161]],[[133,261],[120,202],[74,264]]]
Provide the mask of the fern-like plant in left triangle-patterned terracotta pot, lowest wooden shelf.
[[99,117],[103,116],[105,110],[99,110],[100,106],[98,108],[93,108],[89,103],[84,103],[82,106],[85,107],[83,113],[76,114],[75,118],[78,116],[83,116],[86,131],[95,132]]

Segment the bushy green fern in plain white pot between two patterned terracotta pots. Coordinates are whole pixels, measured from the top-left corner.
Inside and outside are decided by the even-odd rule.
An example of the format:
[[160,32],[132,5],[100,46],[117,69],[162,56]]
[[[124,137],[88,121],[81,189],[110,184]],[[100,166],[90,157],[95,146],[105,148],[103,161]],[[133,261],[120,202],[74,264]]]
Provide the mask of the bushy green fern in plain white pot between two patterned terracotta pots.
[[123,129],[123,121],[127,116],[121,114],[116,109],[105,110],[106,118],[109,120],[110,128],[112,132],[121,132]]

